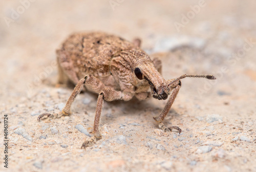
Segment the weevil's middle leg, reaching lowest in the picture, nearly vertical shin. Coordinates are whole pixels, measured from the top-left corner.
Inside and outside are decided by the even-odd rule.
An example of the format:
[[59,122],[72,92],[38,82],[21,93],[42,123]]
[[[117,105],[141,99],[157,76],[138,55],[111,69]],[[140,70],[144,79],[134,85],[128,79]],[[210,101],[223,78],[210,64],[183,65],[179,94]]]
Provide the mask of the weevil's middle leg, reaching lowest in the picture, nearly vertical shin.
[[103,100],[113,101],[113,100],[117,100],[117,99],[121,99],[121,98],[122,98],[122,92],[115,91],[114,89],[108,88],[108,87],[105,87],[99,93],[97,105],[96,105],[96,111],[95,111],[94,126],[93,126],[94,136],[91,137],[90,139],[86,139],[83,142],[81,148],[82,147],[86,148],[86,147],[92,146],[93,143],[95,143],[97,139],[101,138],[101,134],[99,131],[99,125],[100,125],[100,116],[101,116],[102,108],[103,108]]

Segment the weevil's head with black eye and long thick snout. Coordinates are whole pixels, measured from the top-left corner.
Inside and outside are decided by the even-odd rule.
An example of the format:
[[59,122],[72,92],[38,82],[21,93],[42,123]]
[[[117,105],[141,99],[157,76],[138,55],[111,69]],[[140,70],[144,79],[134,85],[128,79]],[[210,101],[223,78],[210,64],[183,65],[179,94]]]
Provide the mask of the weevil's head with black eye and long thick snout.
[[157,71],[153,61],[146,54],[141,54],[133,66],[134,75],[139,80],[144,80],[150,84],[152,97],[158,100],[165,100],[168,97],[170,89],[168,83]]

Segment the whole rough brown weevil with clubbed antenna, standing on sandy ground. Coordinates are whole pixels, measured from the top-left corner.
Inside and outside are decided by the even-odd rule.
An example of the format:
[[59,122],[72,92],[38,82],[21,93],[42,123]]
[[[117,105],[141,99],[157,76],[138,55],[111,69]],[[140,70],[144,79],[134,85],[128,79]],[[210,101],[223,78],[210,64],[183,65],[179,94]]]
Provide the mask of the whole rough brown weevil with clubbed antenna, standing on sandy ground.
[[164,132],[173,129],[181,133],[178,126],[163,124],[163,119],[169,112],[185,77],[202,77],[216,79],[213,75],[182,75],[178,78],[165,80],[161,75],[161,61],[153,60],[142,49],[140,39],[133,42],[119,36],[102,32],[75,33],[70,35],[56,50],[59,83],[72,81],[76,84],[65,107],[59,113],[44,113],[38,116],[38,121],[45,118],[59,118],[70,115],[70,107],[82,89],[98,94],[93,136],[82,143],[86,148],[101,138],[100,116],[103,101],[131,100],[134,96],[145,100],[152,96],[165,100],[166,105],[160,115],[153,117]]

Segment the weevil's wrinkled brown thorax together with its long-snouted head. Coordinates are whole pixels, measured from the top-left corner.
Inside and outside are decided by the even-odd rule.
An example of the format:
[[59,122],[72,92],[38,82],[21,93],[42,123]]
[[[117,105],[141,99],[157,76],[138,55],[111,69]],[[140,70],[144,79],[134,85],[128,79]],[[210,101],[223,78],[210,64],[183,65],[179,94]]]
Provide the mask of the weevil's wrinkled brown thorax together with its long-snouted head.
[[[141,71],[141,78],[135,69]],[[169,89],[162,75],[156,70],[153,61],[142,51],[121,51],[115,54],[110,63],[110,71],[120,90],[134,93],[147,92],[159,100],[166,99]]]

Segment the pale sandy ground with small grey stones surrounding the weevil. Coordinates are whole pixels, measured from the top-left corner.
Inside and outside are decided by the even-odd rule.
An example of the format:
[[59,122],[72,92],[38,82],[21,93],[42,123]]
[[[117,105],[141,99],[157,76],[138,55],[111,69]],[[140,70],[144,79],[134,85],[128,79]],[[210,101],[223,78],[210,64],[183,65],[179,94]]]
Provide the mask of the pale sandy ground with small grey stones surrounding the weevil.
[[[1,1],[0,170],[256,171],[255,6],[253,0]],[[90,93],[77,97],[71,116],[37,122],[40,113],[58,112],[73,89],[56,86],[56,48],[72,32],[95,30],[140,37],[142,48],[163,61],[166,79],[218,78],[183,79],[164,120],[180,126],[180,135],[162,132],[153,120],[166,101],[105,102],[102,139],[80,149],[94,121],[97,95]]]

